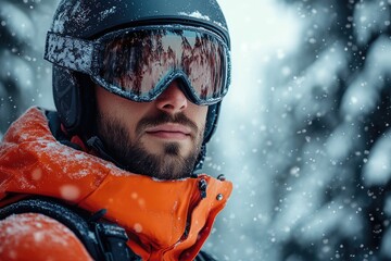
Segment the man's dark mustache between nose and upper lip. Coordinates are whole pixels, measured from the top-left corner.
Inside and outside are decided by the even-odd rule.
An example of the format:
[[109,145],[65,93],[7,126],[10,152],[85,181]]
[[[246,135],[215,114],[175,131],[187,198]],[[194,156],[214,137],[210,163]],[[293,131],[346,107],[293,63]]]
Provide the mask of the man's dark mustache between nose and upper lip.
[[160,112],[157,115],[141,119],[136,126],[136,134],[139,135],[142,129],[151,126],[156,126],[165,123],[176,123],[187,126],[195,135],[199,132],[197,124],[187,117],[182,112],[177,114],[168,114]]

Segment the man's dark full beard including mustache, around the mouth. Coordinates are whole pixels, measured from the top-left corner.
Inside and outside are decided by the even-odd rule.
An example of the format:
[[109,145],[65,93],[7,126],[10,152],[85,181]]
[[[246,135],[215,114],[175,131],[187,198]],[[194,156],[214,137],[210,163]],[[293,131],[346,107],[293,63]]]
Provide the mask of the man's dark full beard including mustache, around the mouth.
[[[164,123],[177,123],[191,128],[190,139],[193,146],[186,156],[180,153],[181,145],[175,141],[165,142],[161,153],[151,153],[144,148],[140,140],[142,130],[146,127]],[[200,130],[184,113],[171,115],[161,112],[159,115],[141,119],[136,126],[134,139],[130,138],[130,133],[123,122],[102,113],[97,115],[97,126],[98,136],[103,141],[109,154],[123,169],[159,179],[178,179],[191,176],[201,151],[204,133],[203,128]]]

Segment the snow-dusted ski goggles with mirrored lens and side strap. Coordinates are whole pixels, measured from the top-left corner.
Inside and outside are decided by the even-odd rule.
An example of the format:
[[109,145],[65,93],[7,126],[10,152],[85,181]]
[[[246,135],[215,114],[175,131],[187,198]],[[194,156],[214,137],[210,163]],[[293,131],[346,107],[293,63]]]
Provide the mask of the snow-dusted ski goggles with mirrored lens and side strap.
[[45,59],[86,73],[106,90],[137,102],[157,98],[174,79],[195,104],[223,99],[230,52],[216,34],[182,25],[141,26],[85,40],[48,33]]

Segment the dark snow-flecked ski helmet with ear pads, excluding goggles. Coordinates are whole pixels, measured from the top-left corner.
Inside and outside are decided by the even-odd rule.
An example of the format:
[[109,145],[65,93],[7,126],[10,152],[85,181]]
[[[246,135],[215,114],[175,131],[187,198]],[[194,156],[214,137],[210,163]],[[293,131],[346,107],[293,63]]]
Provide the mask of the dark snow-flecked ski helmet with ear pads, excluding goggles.
[[[140,25],[182,24],[212,30],[230,46],[224,14],[216,0],[62,0],[50,32],[62,36],[93,39],[105,33]],[[70,133],[86,134],[92,124],[89,76],[53,64],[53,97],[60,120]],[[229,84],[229,72],[228,83]],[[93,101],[92,101],[93,102]],[[204,145],[213,135],[220,102],[210,105]],[[202,162],[201,162],[202,163]]]

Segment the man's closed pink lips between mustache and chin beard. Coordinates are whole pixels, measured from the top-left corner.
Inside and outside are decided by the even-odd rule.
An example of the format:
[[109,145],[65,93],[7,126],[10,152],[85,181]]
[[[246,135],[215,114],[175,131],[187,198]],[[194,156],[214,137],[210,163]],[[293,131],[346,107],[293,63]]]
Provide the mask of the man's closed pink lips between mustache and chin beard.
[[167,139],[185,139],[191,136],[191,129],[189,127],[171,123],[148,127],[146,133],[159,138]]

